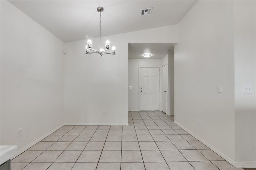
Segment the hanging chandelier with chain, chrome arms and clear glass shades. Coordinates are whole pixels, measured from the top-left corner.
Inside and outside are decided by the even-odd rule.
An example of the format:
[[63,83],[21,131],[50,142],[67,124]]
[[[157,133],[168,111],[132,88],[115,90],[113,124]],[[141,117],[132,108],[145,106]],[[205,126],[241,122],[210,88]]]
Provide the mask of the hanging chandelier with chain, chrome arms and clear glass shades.
[[[104,8],[103,7],[98,7],[97,11],[100,12],[100,29],[101,29],[101,12],[103,12]],[[110,36],[105,36],[105,46],[101,45],[101,30],[100,30],[100,50],[95,50],[92,49],[92,35],[86,35],[86,42],[85,42],[85,53],[86,54],[93,54],[93,53],[98,53],[101,55],[103,54],[112,54],[116,55],[116,45],[113,42],[112,47],[111,47],[111,53],[106,53],[105,51],[110,49]],[[90,53],[90,51],[95,51]]]

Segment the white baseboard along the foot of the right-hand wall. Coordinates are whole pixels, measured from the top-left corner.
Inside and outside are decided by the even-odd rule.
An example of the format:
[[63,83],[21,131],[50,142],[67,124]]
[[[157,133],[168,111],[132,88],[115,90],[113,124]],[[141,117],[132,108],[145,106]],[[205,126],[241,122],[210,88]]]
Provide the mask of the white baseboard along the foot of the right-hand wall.
[[[174,121],[174,123],[176,125],[178,125],[179,127],[181,127],[182,129],[184,129],[185,131],[187,131],[190,135],[192,135],[194,138],[196,138],[198,141],[202,142],[204,145],[206,145],[206,147],[210,148],[211,150],[213,150],[216,154],[218,154],[219,156],[221,156],[223,159],[225,159],[227,162],[229,162],[230,164],[232,164],[233,166],[236,166],[236,163],[230,159],[228,156],[226,156],[225,154],[223,154],[222,152],[220,152],[218,149],[214,148],[212,145],[210,145],[209,143],[207,143],[206,141],[204,141],[203,139],[201,139],[200,137],[198,137],[197,135],[195,135],[194,133],[192,133],[191,131],[189,131],[188,129],[186,129],[184,126],[180,125],[180,123]],[[244,167],[243,167],[244,168]]]

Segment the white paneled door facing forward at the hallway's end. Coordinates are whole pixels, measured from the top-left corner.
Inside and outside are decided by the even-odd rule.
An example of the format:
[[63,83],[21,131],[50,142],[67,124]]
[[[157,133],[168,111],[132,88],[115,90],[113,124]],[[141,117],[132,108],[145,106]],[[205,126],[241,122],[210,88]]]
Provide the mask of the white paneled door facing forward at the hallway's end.
[[140,110],[160,110],[159,68],[140,68]]

